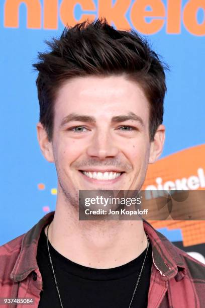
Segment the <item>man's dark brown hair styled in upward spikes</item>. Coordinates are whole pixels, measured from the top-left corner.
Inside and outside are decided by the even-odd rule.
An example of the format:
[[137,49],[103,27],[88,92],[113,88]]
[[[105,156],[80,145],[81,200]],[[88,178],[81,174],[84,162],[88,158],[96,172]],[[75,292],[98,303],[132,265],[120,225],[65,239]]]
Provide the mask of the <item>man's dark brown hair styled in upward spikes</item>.
[[168,68],[151,49],[148,41],[134,30],[120,31],[106,19],[66,27],[60,38],[46,41],[49,52],[38,53],[36,80],[40,105],[40,122],[52,140],[54,104],[61,85],[77,76],[124,74],[135,81],[149,101],[149,135],[153,141],[163,122]]

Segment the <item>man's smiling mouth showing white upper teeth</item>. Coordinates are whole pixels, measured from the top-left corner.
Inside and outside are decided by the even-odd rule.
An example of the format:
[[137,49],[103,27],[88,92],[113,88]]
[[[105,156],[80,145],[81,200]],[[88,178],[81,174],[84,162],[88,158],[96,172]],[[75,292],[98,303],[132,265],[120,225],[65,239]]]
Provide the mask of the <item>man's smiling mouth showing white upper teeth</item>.
[[98,171],[83,171],[79,170],[88,180],[91,180],[93,182],[98,181],[104,181],[110,182],[110,181],[116,181],[119,180],[119,178],[125,173],[125,172],[118,172],[118,171],[105,171],[105,172],[98,172]]

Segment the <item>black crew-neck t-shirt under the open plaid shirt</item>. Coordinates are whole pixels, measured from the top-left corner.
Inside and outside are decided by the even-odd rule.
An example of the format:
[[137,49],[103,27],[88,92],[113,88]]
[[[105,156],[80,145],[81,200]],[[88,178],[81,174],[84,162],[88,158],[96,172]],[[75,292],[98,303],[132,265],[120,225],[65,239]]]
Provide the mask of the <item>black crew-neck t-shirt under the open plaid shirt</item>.
[[[74,263],[59,254],[49,243],[63,307],[128,308],[144,261],[146,250],[127,264],[110,269],[96,269]],[[60,308],[51,269],[46,235],[41,233],[37,263],[43,279],[40,308]],[[152,249],[148,254],[133,298],[132,307],[146,308],[152,265]]]

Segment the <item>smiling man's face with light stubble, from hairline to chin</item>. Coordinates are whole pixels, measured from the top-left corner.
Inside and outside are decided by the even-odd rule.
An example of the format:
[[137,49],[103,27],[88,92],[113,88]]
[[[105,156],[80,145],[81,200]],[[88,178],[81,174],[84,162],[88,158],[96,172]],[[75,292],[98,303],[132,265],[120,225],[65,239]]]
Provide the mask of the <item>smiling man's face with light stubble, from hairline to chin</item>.
[[[49,161],[65,196],[78,190],[138,190],[154,145],[149,103],[123,75],[76,78],[58,91]],[[60,193],[60,192],[59,192]]]

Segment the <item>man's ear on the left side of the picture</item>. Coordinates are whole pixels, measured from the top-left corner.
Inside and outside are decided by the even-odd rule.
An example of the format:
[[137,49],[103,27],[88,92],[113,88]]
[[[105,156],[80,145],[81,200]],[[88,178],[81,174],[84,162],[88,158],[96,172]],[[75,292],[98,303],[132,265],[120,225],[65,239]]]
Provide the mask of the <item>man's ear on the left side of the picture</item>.
[[36,128],[37,128],[37,137],[41,148],[41,152],[48,162],[53,163],[54,156],[53,156],[52,142],[48,140],[48,134],[40,122],[37,123]]

